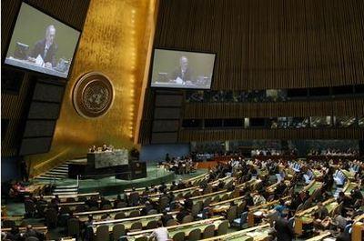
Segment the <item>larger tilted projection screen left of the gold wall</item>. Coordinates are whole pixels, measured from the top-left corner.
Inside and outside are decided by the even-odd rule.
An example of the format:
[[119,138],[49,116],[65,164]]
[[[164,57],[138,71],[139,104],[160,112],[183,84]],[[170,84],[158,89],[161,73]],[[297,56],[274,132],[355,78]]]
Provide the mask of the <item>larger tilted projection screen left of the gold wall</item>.
[[5,64],[67,78],[80,32],[22,3]]

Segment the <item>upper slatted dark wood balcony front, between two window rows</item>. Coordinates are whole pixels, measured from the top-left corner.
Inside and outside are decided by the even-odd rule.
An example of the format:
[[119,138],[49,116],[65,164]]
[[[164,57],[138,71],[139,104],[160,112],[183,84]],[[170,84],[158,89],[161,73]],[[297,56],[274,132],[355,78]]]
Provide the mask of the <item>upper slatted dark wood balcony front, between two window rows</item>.
[[295,101],[279,103],[186,104],[183,118],[238,118],[279,116],[363,116],[364,99]]

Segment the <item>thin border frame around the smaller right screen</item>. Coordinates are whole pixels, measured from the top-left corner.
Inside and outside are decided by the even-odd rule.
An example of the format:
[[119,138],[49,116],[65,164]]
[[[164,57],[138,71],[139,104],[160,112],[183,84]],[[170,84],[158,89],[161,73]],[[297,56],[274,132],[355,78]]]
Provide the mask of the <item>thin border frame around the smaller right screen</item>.
[[[211,83],[210,83],[210,87],[209,88],[183,88],[183,87],[157,87],[157,86],[152,86],[152,77],[153,77],[153,67],[154,67],[154,56],[156,54],[156,50],[169,50],[169,51],[179,51],[179,52],[187,52],[187,53],[197,53],[197,54],[209,54],[209,55],[214,55],[214,65],[212,68],[212,75],[211,75]],[[202,50],[186,50],[186,49],[181,49],[181,48],[165,48],[165,47],[154,47],[153,48],[153,53],[152,53],[152,59],[150,62],[150,68],[149,68],[149,81],[148,81],[148,87],[152,88],[152,89],[170,89],[170,90],[211,90],[212,85],[214,83],[214,75],[215,75],[215,66],[217,63],[217,53],[215,52],[207,52],[207,51],[202,51]]]

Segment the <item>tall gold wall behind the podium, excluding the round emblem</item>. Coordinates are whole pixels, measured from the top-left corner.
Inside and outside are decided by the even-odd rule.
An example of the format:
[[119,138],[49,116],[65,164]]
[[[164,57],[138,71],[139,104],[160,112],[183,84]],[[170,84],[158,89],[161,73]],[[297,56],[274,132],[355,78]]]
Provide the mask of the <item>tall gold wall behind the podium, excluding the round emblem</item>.
[[[51,149],[25,156],[31,176],[86,156],[92,145],[134,146],[156,21],[157,0],[91,1]],[[72,91],[81,75],[94,71],[112,82],[114,102],[106,115],[86,118],[76,113]]]

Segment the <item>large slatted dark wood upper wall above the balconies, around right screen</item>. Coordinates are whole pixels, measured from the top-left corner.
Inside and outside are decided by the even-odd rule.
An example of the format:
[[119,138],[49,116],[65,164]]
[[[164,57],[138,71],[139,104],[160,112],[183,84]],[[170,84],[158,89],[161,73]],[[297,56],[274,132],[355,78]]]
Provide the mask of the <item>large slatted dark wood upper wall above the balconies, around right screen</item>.
[[363,1],[161,0],[155,46],[217,53],[213,89],[364,83]]

